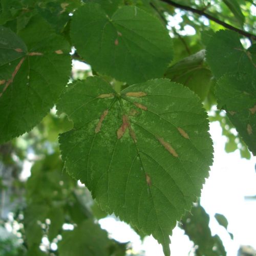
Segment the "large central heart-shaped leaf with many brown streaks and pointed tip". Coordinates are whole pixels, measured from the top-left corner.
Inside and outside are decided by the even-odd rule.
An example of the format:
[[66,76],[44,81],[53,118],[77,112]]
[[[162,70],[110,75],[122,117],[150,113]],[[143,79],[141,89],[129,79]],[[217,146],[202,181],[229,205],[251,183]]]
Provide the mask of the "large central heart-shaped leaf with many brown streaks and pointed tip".
[[199,97],[155,79],[116,93],[98,77],[78,81],[57,104],[74,122],[59,137],[70,175],[169,254],[169,234],[193,201],[212,163],[208,121]]

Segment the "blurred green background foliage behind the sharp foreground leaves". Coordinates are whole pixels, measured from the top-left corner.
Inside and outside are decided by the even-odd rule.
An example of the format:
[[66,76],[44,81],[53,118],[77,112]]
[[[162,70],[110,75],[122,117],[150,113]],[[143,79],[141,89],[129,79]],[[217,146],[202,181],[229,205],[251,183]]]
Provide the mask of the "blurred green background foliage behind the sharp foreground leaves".
[[[94,2],[105,5],[109,15],[118,6],[136,5],[163,22],[173,38],[175,50],[165,77],[185,84],[199,95],[208,111],[209,121],[219,122],[222,127],[226,152],[239,150],[242,158],[249,159],[247,146],[225,112],[216,108],[216,80],[205,60],[207,38],[212,31],[223,27],[204,16],[176,8],[168,1]],[[255,33],[256,6],[252,0],[180,0],[176,3],[202,10],[227,24]],[[17,32],[33,15],[39,14],[57,33],[70,40],[70,19],[80,5],[79,0],[1,0],[0,25]],[[251,44],[246,37],[241,41],[245,48]],[[71,81],[92,74],[102,76],[91,70],[75,49],[71,55],[74,64]],[[129,86],[110,77],[104,76],[104,79],[115,89]],[[0,145],[0,255],[76,256],[80,251],[85,251],[86,255],[143,255],[143,252],[134,252],[129,243],[111,239],[100,228],[97,221],[107,215],[86,187],[66,174],[57,139],[59,133],[70,130],[72,125],[65,115],[57,116],[53,108],[31,132]],[[216,218],[227,228],[225,217],[217,215]],[[209,216],[197,204],[179,226],[194,242],[195,255],[225,255],[220,238],[211,236],[208,224]],[[144,238],[139,230],[135,231],[141,239]]]

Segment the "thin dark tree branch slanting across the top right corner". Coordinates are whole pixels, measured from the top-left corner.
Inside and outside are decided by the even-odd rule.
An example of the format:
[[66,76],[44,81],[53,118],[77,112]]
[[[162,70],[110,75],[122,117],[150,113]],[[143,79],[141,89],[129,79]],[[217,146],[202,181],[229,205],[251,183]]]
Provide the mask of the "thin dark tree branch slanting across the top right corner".
[[246,32],[244,30],[241,30],[241,29],[238,29],[236,27],[233,27],[225,22],[222,22],[221,20],[219,20],[218,18],[214,17],[214,16],[211,16],[210,14],[207,14],[205,13],[203,10],[198,10],[198,9],[195,9],[193,7],[190,7],[190,6],[185,6],[185,5],[181,5],[181,4],[177,4],[175,3],[174,1],[172,0],[160,0],[161,2],[164,2],[166,4],[169,4],[169,5],[172,5],[174,7],[177,7],[179,9],[183,9],[183,10],[186,10],[186,11],[190,11],[190,12],[194,12],[194,13],[197,13],[201,16],[205,16],[206,18],[222,25],[223,27],[227,28],[227,29],[230,29],[230,30],[233,30],[233,31],[236,31],[238,32],[239,34],[243,35],[243,36],[246,36],[248,37],[249,39],[252,39],[252,40],[256,40],[256,35],[253,35],[249,32]]

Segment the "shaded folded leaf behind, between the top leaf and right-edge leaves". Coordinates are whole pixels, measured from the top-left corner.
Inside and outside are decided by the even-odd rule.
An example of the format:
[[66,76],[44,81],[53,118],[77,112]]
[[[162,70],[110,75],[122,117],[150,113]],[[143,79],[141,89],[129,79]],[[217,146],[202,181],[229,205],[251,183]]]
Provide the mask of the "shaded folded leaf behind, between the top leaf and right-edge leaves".
[[208,95],[211,81],[211,72],[206,68],[205,50],[190,55],[168,68],[165,77],[179,82],[194,91],[203,101]]

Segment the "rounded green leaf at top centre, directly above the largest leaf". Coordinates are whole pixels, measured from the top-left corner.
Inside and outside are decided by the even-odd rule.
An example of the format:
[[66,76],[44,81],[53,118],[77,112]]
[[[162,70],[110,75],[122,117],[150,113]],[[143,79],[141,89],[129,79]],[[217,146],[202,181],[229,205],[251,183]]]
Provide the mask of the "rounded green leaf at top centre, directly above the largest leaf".
[[137,7],[109,18],[99,5],[85,4],[73,16],[71,38],[93,69],[129,83],[162,77],[173,56],[167,30]]

